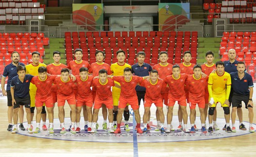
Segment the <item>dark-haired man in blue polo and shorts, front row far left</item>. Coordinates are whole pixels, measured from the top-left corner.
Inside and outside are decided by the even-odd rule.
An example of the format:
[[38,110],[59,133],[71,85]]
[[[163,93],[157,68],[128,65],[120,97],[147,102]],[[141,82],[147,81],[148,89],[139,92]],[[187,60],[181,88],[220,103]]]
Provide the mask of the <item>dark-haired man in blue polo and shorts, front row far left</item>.
[[29,96],[29,84],[33,75],[26,74],[26,68],[24,66],[17,66],[18,76],[12,78],[11,81],[11,95],[12,95],[12,105],[13,105],[13,122],[14,129],[12,134],[18,133],[18,109],[20,105],[25,106],[27,113],[28,122],[28,133],[32,134],[33,130],[31,128],[31,112],[30,112],[30,96]]

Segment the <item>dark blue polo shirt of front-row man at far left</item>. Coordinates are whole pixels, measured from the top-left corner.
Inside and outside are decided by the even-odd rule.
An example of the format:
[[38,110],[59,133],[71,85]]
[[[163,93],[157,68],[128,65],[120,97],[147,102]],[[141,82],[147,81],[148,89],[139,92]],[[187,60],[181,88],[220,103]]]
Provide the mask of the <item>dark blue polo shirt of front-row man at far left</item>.
[[20,81],[19,76],[12,78],[11,87],[14,87],[14,97],[26,98],[29,96],[29,85],[33,75],[26,74],[23,83]]

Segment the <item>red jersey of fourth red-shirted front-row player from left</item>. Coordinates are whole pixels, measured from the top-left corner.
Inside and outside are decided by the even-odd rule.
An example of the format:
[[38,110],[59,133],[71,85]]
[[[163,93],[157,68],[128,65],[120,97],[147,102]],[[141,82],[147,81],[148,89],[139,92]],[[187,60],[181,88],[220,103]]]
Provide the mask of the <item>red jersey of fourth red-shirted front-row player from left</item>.
[[96,94],[101,100],[112,98],[111,87],[115,86],[115,83],[111,78],[108,78],[105,84],[101,84],[99,79],[94,79],[92,86],[96,88]]

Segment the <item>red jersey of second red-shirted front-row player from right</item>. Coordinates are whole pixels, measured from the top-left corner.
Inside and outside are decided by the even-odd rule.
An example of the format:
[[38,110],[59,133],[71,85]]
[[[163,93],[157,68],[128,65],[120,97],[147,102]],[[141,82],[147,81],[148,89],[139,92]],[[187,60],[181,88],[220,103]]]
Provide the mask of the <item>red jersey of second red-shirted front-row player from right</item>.
[[167,76],[164,81],[168,84],[169,86],[169,92],[168,95],[171,95],[171,97],[177,98],[181,96],[185,96],[185,82],[187,79],[187,74],[179,74],[179,78],[175,79],[173,75]]

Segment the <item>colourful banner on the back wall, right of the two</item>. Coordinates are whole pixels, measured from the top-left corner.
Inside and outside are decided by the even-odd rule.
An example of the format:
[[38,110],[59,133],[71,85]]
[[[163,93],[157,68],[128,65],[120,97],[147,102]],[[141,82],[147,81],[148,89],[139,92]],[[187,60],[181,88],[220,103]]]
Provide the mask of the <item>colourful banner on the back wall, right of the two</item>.
[[159,31],[173,31],[189,21],[190,3],[158,3]]

